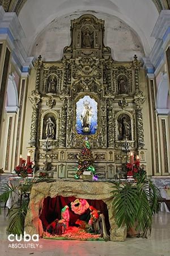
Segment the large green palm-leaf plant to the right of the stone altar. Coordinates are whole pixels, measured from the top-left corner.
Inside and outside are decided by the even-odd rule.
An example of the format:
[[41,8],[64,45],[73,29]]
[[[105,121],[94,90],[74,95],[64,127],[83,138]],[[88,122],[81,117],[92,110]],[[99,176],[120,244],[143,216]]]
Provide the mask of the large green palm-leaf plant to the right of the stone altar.
[[152,217],[159,210],[159,189],[146,174],[137,177],[137,183],[114,183],[113,208],[118,227],[135,227],[139,236],[151,234]]

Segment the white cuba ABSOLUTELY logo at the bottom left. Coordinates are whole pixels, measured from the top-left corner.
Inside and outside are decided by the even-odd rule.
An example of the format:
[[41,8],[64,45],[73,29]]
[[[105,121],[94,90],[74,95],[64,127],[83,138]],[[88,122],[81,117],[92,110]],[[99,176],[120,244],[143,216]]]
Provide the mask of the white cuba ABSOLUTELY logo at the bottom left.
[[[32,248],[36,249],[39,246],[39,243],[33,243],[33,242],[39,242],[39,234],[33,234],[30,236],[29,234],[26,234],[24,231],[24,235],[20,234],[9,234],[8,235],[8,241],[14,242],[10,243],[8,247],[11,248]],[[15,243],[15,242],[22,242],[23,243]],[[31,241],[31,242],[30,242]],[[25,243],[24,243],[25,242]],[[30,242],[30,243],[28,243]]]

